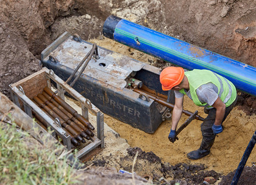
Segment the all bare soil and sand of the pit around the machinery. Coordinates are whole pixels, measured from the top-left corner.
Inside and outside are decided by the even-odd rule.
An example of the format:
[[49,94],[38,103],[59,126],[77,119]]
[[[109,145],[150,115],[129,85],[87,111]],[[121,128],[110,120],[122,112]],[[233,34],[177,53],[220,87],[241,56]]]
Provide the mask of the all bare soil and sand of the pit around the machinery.
[[[159,68],[171,65],[104,38],[102,25],[112,14],[256,67],[254,0],[3,0],[0,1],[0,91],[10,97],[9,84],[39,70],[40,53],[65,31]],[[212,177],[217,180],[215,184],[230,184],[256,127],[256,98],[242,92],[238,95],[237,106],[224,122],[224,132],[216,137],[210,155],[201,160],[191,161],[186,157],[201,143],[201,121],[194,120],[180,133],[178,141],[170,143],[169,120],[154,134],[148,134],[105,115],[108,143],[88,165],[132,172],[138,151],[133,170],[154,183],[174,184],[179,180],[180,184],[202,184],[205,177]],[[198,110],[199,115],[206,116],[188,98],[184,109]],[[179,124],[185,119],[187,116],[182,115]],[[255,159],[254,149],[239,184],[255,183]]]

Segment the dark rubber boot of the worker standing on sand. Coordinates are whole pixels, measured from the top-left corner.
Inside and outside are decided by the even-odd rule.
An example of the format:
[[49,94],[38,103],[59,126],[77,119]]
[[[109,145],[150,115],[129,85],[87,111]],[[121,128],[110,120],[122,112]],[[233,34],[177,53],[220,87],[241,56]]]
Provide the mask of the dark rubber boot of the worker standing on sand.
[[187,157],[190,160],[199,160],[199,159],[203,158],[204,156],[209,155],[210,148],[213,146],[213,143],[214,143],[214,140],[205,141],[203,138],[200,148],[188,153]]

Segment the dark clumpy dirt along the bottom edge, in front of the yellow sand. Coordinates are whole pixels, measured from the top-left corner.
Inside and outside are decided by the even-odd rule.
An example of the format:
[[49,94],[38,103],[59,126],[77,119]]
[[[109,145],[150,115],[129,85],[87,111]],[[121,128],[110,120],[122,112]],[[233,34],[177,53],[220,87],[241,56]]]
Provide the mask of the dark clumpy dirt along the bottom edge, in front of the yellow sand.
[[[136,153],[137,160],[134,158]],[[108,159],[109,160],[109,159]],[[94,160],[94,166],[108,166],[108,160]],[[134,165],[134,172],[140,175],[145,180],[152,180],[154,184],[203,184],[208,181],[211,184],[230,184],[235,175],[235,171],[227,175],[215,172],[215,170],[208,170],[205,164],[187,164],[178,163],[172,166],[169,163],[162,163],[162,160],[153,152],[144,152],[139,147],[130,147],[127,149],[127,155],[119,159],[119,169],[132,172]],[[147,167],[150,170],[145,170]],[[145,173],[147,172],[147,173]],[[255,177],[255,165],[252,167],[246,166],[241,174],[238,184],[253,185]]]

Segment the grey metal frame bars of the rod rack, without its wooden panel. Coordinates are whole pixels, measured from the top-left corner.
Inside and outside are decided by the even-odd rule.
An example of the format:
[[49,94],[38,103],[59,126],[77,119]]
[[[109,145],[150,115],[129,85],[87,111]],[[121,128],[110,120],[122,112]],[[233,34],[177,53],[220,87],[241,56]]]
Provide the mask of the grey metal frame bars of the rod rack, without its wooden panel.
[[[46,73],[46,81],[49,88],[51,88],[51,80],[57,84],[58,95],[62,99],[64,99],[64,92],[68,92],[69,95],[73,96],[77,101],[79,101],[82,108],[82,116],[84,116],[86,119],[89,120],[88,110],[91,110],[93,115],[96,115],[97,137],[94,136],[92,138],[92,143],[88,144],[83,149],[79,150],[79,152],[77,152],[76,157],[80,159],[98,146],[100,146],[101,149],[104,148],[104,114],[96,106],[91,104],[89,99],[84,98],[84,96],[80,95],[80,93],[78,93],[68,84],[66,84],[66,82],[59,78],[59,76],[55,75],[52,70],[43,67],[43,69],[37,72],[37,74],[39,73]],[[28,76],[27,78],[30,78],[30,76]],[[63,130],[58,123],[55,123],[54,120],[49,118],[49,116],[46,115],[46,113],[44,113],[43,110],[41,110],[25,95],[23,88],[21,86],[13,87],[12,84],[10,84],[9,87],[11,89],[10,92],[13,102],[18,107],[21,107],[19,102],[21,100],[24,106],[24,111],[27,113],[27,115],[32,117],[32,111],[38,113],[38,115],[40,115],[41,118],[46,120],[46,122],[49,124],[48,126],[51,127],[53,131],[52,136],[55,136],[57,133],[57,135],[59,135],[62,138],[63,144],[66,146],[68,150],[71,150],[73,148],[73,144],[71,144],[71,137],[67,136],[65,130]]]

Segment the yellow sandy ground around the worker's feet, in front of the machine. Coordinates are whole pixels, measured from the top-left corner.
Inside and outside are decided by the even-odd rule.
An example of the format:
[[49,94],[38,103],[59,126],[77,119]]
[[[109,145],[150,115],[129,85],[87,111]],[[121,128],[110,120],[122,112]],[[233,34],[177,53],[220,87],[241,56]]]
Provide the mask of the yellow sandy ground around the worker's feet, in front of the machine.
[[[185,110],[199,110],[201,116],[206,116],[202,109],[191,104],[190,99],[185,99]],[[241,118],[243,116],[243,118]],[[183,115],[180,119],[182,124],[188,116]],[[245,118],[245,119],[244,119]],[[169,130],[171,129],[171,121],[164,121],[154,134],[144,133],[141,130],[121,123],[110,116],[105,116],[105,123],[112,127],[125,138],[130,146],[140,147],[145,152],[154,152],[163,162],[176,165],[178,163],[206,164],[207,170],[215,170],[218,173],[227,174],[235,170],[240,163],[244,150],[251,140],[255,131],[256,116],[246,116],[244,112],[235,108],[230,113],[227,120],[224,122],[224,132],[219,134],[212,147],[210,155],[201,160],[188,160],[186,154],[192,150],[199,148],[202,140],[200,124],[201,121],[194,120],[186,129],[179,135],[179,141],[174,144],[168,140]],[[251,133],[251,135],[247,134]],[[256,152],[252,151],[247,166],[255,164]]]

